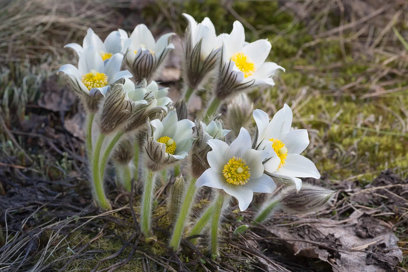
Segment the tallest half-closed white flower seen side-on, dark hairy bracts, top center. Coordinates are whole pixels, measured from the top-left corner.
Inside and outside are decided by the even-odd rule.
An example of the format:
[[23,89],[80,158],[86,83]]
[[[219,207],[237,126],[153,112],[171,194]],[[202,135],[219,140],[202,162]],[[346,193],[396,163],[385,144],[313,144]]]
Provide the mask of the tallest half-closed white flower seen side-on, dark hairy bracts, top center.
[[216,39],[215,28],[209,18],[197,23],[191,15],[183,13],[183,16],[188,20],[184,45],[184,79],[189,88],[196,89],[215,68],[222,40]]

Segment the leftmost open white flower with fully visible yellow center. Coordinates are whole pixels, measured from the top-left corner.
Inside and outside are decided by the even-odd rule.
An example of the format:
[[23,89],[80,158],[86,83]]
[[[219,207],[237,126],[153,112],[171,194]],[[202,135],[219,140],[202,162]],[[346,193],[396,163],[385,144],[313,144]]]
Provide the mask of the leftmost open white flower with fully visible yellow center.
[[84,49],[78,61],[78,68],[64,64],[58,72],[64,72],[70,79],[72,88],[87,96],[105,95],[109,85],[121,78],[132,77],[128,70],[120,71],[123,55],[116,53],[109,60],[102,57],[93,46]]

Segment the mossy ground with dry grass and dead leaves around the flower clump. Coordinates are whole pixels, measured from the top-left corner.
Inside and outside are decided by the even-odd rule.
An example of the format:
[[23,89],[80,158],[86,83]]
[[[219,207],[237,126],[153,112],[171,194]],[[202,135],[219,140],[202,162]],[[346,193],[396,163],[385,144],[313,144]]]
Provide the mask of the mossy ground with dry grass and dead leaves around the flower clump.
[[[166,249],[168,183],[157,191],[154,223],[160,236],[153,246],[138,239],[137,184],[135,195],[115,199],[113,211],[94,208],[81,109],[54,75],[72,56],[62,45],[79,40],[89,26],[105,33],[146,22],[156,34],[182,33],[182,11],[198,20],[210,17],[217,32],[230,31],[231,22],[239,20],[249,39],[268,37],[270,59],[287,72],[279,75],[276,88],[250,97],[270,114],[285,102],[291,105],[294,125],[311,132],[307,156],[315,158],[323,177],[313,182],[337,190],[326,211],[276,214],[238,238],[231,233],[250,222],[254,209],[233,211],[224,222],[229,231],[221,238],[221,263],[188,239],[182,254]],[[355,269],[407,271],[408,48],[393,31],[407,39],[407,14],[405,1],[392,0],[3,1],[0,271],[353,271],[337,261],[354,253],[364,255]],[[180,69],[177,56],[167,69]],[[162,75],[162,81],[177,97],[175,80]],[[113,180],[110,172],[111,192]],[[209,197],[203,191],[195,209],[204,208]],[[255,208],[262,199],[257,201]],[[361,230],[350,239],[366,243],[352,247],[326,233],[328,227],[335,232],[348,226]],[[381,250],[384,239],[377,238],[392,233],[397,246]],[[402,261],[390,257],[395,250],[405,253]]]

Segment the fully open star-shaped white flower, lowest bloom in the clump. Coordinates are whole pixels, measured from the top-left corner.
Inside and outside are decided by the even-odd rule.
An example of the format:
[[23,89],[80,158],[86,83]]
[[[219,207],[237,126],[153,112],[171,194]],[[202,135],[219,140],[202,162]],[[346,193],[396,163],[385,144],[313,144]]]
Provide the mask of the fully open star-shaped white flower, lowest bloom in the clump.
[[196,186],[209,186],[222,189],[238,200],[239,209],[246,210],[252,201],[253,193],[272,193],[275,182],[264,174],[262,161],[270,156],[266,150],[251,148],[251,136],[243,127],[238,137],[227,145],[217,139],[208,140],[213,149],[208,152],[208,168],[197,179]]

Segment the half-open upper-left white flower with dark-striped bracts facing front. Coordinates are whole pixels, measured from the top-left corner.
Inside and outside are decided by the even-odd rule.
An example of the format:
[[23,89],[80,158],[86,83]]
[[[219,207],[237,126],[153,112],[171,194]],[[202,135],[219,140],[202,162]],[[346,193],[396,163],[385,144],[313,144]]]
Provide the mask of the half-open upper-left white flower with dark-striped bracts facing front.
[[[170,42],[174,33],[162,35],[157,42],[144,24],[138,24],[124,42],[125,62],[136,81],[150,81],[161,68],[164,59],[174,45]],[[126,34],[127,37],[127,34]]]

